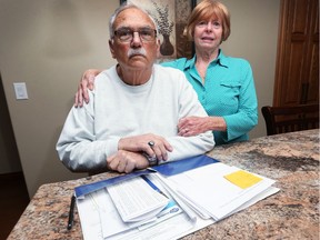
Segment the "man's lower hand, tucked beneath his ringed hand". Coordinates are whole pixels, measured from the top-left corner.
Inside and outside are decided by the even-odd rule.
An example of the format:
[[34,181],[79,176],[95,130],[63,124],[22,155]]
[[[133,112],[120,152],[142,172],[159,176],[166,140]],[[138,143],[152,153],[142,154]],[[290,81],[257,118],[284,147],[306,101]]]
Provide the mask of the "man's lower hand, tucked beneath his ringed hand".
[[110,170],[129,173],[134,169],[148,168],[149,162],[142,153],[119,150],[107,159],[107,166]]

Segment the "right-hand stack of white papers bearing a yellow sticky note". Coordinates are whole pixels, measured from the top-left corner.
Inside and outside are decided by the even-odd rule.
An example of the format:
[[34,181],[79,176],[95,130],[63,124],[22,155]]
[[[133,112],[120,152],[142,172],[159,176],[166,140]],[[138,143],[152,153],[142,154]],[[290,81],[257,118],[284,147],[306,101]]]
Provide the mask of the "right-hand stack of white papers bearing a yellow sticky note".
[[274,183],[223,163],[209,164],[183,173],[164,177],[167,186],[201,218],[218,221],[237,211]]

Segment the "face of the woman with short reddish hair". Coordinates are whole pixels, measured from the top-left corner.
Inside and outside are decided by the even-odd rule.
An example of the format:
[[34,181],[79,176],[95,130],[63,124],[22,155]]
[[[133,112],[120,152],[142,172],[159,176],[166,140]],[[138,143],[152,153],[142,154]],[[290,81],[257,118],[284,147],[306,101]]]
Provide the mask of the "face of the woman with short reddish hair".
[[194,27],[193,40],[199,50],[218,50],[222,42],[222,22],[212,18],[201,20]]

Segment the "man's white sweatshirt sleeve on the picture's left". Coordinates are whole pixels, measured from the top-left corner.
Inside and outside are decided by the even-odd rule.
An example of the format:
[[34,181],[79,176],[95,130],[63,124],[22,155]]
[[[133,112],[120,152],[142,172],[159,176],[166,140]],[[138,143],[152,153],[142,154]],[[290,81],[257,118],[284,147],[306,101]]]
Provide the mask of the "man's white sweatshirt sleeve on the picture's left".
[[107,169],[107,156],[118,149],[119,139],[97,140],[94,136],[94,92],[90,102],[70,110],[56,149],[63,164],[76,172]]

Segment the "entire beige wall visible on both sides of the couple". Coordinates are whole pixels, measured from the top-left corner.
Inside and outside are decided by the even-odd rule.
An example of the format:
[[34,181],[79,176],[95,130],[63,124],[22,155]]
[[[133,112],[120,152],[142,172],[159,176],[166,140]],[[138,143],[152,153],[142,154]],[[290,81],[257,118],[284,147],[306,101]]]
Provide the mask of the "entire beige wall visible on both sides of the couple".
[[[224,0],[232,13],[226,53],[253,68],[259,108],[272,102],[280,0]],[[54,146],[84,69],[114,63],[108,18],[119,0],[0,0],[0,71],[28,190],[80,178],[59,161]],[[29,100],[17,101],[13,82]],[[259,110],[260,111],[260,110]],[[266,133],[260,116],[252,137]]]

